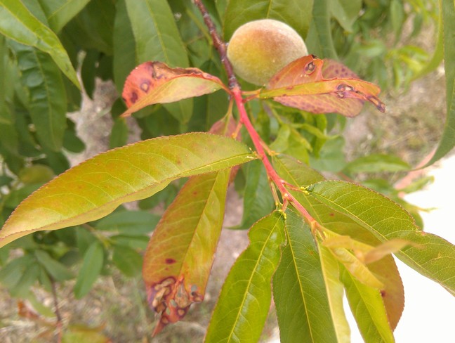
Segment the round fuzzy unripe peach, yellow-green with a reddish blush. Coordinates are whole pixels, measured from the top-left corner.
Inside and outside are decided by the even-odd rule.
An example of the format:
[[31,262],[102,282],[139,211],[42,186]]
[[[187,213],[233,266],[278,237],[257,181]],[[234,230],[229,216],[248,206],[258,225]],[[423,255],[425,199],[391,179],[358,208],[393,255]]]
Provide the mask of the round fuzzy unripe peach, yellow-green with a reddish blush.
[[227,58],[239,77],[262,86],[288,63],[308,51],[302,37],[278,20],[247,22],[232,34]]

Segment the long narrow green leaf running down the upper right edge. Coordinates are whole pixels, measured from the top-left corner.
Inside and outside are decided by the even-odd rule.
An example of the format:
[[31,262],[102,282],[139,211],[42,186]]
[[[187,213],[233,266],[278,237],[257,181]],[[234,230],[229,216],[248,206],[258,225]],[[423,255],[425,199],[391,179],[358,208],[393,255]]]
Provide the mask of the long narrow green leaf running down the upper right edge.
[[446,77],[447,118],[444,125],[441,141],[431,157],[435,163],[444,157],[455,146],[455,3],[454,1],[440,0],[442,25],[444,27],[444,69]]

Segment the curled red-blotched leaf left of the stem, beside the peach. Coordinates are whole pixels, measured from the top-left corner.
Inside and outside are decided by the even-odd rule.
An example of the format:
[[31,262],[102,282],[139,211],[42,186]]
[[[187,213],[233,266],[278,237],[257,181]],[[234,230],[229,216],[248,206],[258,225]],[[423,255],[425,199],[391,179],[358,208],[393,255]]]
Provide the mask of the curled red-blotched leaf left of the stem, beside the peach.
[[171,68],[161,62],[145,62],[138,65],[125,81],[122,98],[126,110],[121,116],[154,103],[173,103],[193,96],[229,89],[218,77],[197,68]]

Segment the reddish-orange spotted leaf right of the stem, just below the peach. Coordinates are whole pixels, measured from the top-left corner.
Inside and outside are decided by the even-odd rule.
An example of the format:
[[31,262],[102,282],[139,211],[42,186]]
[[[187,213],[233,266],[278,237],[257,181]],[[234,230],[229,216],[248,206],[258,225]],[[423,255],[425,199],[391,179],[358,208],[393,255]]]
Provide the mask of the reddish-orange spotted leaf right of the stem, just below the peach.
[[342,63],[309,55],[277,72],[259,96],[308,112],[354,117],[365,101],[384,112],[385,105],[377,97],[380,91],[378,86],[358,79]]

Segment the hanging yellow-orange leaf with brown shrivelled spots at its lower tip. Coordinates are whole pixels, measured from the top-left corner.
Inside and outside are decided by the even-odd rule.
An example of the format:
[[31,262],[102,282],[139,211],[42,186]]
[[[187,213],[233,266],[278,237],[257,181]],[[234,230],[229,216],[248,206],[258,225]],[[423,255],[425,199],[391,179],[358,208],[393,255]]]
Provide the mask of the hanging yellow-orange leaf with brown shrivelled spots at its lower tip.
[[143,278],[160,315],[153,335],[202,302],[224,219],[230,169],[193,176],[166,209],[145,252]]

